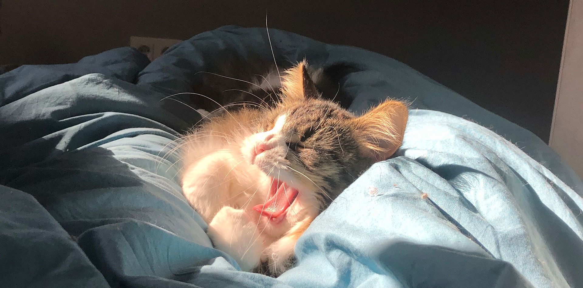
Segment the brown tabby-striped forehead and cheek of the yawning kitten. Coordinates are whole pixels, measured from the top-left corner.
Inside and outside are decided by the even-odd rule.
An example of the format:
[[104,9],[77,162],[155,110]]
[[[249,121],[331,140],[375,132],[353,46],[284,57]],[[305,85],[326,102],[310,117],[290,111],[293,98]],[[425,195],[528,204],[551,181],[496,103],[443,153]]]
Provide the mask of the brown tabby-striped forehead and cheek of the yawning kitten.
[[[286,159],[325,191],[322,200],[335,198],[363,170],[368,161],[354,136],[355,116],[339,105],[320,99],[287,102],[272,116],[273,129],[287,137]],[[300,176],[298,176],[300,177]]]

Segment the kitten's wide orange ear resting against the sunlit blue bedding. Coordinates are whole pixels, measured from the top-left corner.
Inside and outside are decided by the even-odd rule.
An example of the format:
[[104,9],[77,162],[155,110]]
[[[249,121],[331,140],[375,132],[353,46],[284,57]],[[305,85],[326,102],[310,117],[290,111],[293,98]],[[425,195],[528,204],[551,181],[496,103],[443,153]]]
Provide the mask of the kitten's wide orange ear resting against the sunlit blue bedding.
[[391,157],[403,142],[408,115],[405,104],[387,100],[354,119],[361,152],[376,161]]

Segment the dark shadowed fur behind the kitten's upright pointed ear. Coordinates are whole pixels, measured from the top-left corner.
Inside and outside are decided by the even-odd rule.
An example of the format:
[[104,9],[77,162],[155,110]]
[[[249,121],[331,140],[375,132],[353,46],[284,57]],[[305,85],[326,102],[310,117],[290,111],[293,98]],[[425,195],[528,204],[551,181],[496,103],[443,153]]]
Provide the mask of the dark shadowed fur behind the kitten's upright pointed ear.
[[[196,108],[202,108],[209,112],[217,109],[222,110],[221,106],[236,110],[240,106],[228,105],[243,102],[259,105],[276,104],[280,100],[279,75],[293,66],[295,65],[289,62],[274,65],[273,61],[265,61],[253,56],[248,56],[245,59],[236,57],[222,59],[209,70],[195,75],[195,93],[205,95],[212,100],[193,95],[192,102],[196,103]],[[360,70],[356,63],[346,62],[314,68],[308,66],[306,72],[310,79],[314,79],[315,87],[323,99],[333,100],[342,108],[347,109],[353,99],[340,87],[347,74]],[[268,79],[269,81],[267,81]]]

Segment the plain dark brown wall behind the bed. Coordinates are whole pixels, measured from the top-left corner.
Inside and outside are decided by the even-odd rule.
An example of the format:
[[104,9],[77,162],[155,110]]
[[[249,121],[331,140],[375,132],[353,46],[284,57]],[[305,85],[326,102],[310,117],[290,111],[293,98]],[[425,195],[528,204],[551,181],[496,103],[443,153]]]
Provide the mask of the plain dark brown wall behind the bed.
[[131,35],[186,39],[265,25],[402,61],[549,138],[568,0],[3,0],[0,64],[68,63]]

